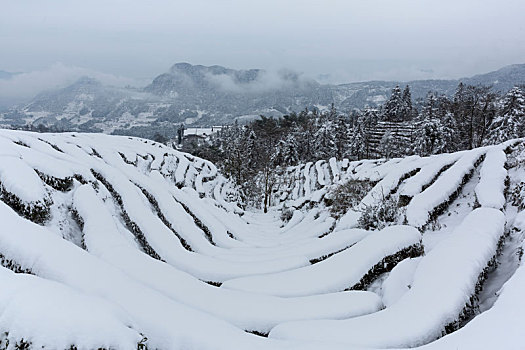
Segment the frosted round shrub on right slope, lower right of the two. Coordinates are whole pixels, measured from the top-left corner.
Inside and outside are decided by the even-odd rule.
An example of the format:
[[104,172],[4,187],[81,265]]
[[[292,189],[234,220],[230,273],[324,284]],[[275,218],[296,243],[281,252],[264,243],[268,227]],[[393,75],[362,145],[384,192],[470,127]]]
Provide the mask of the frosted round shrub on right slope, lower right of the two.
[[399,217],[400,208],[395,197],[384,198],[378,203],[367,205],[361,212],[358,227],[365,230],[382,229]]

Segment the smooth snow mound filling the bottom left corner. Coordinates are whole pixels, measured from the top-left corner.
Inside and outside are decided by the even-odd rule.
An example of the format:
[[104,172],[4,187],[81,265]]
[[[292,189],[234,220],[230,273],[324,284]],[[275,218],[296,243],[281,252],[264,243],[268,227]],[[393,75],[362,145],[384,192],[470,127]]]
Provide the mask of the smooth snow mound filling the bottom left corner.
[[137,347],[143,336],[126,314],[102,298],[61,283],[0,267],[0,331],[34,348]]

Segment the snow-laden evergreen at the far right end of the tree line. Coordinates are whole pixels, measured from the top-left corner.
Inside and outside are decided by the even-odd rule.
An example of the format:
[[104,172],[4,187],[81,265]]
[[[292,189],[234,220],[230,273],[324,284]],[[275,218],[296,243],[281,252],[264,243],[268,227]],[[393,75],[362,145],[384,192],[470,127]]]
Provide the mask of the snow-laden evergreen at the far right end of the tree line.
[[503,98],[502,109],[489,127],[486,145],[525,136],[525,91],[514,87]]

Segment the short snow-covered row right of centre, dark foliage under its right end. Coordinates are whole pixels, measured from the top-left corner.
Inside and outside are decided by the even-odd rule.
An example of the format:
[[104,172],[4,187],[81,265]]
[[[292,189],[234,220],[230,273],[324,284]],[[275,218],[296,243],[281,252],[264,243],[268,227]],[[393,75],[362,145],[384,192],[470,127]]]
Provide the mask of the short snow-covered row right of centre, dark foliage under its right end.
[[[420,244],[411,226],[390,226],[317,264],[279,273],[225,281],[221,288],[282,297],[342,291],[358,284],[384,258]],[[392,266],[393,267],[393,266]]]

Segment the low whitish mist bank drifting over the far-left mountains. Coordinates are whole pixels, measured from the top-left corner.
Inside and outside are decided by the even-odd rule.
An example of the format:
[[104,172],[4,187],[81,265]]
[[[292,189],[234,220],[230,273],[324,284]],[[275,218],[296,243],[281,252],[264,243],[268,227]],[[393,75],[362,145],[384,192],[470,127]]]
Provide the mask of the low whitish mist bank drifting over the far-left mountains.
[[56,63],[31,72],[14,75],[11,79],[0,80],[0,104],[8,106],[28,101],[37,94],[68,86],[81,77],[90,77],[103,84],[123,87],[141,85],[143,82],[94,70]]

